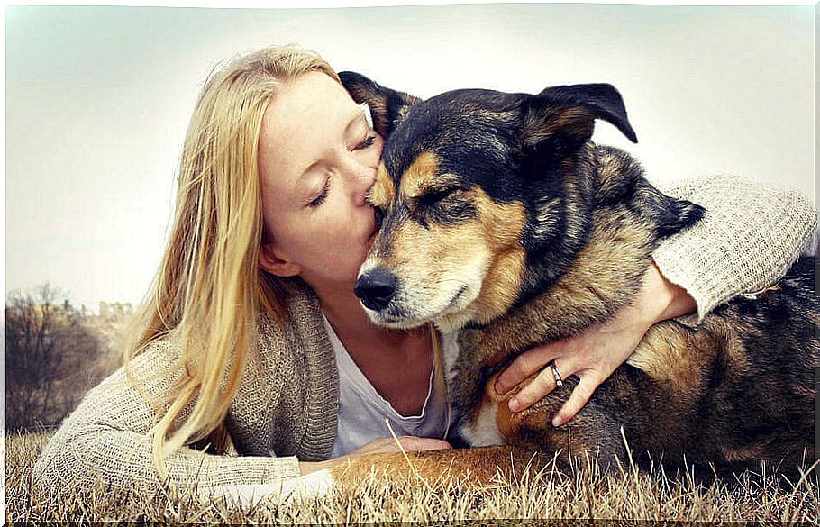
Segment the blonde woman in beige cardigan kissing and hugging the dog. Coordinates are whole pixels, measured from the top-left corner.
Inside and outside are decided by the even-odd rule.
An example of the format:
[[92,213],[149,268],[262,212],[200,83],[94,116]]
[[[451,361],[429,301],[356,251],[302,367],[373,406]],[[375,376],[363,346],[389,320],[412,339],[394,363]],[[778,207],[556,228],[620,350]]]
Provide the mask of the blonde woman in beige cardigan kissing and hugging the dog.
[[[443,377],[436,332],[375,327],[352,292],[376,230],[366,195],[381,146],[312,53],[270,48],[215,72],[188,128],[175,220],[127,368],[63,423],[35,466],[38,481],[156,487],[164,479],[200,489],[281,481],[396,450],[384,419],[407,450],[448,448],[438,439],[449,421],[434,389]],[[696,307],[700,318],[768,286],[814,226],[799,195],[736,178],[668,192],[711,212],[658,250],[636,304],[524,353],[499,391],[555,359],[564,377],[581,378],[556,416],[566,423],[652,323]],[[442,346],[454,342],[444,335]],[[521,409],[553,388],[548,368],[511,404]],[[184,446],[227,439],[240,457]]]

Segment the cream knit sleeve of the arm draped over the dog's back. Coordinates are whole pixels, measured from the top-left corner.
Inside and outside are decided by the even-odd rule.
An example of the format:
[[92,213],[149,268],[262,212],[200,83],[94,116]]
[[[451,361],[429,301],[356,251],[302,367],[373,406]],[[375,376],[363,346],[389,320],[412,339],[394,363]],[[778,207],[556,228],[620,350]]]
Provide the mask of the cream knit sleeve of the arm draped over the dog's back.
[[812,205],[797,190],[712,176],[659,188],[706,208],[695,226],[661,243],[652,257],[661,274],[697,303],[699,323],[716,305],[760,291],[783,277],[816,225]]

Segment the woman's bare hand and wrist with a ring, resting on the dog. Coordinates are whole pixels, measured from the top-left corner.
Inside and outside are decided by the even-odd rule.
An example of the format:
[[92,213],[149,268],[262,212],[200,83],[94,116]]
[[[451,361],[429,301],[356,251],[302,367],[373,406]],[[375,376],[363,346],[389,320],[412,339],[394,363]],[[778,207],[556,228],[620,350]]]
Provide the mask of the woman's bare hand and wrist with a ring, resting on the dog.
[[695,309],[695,300],[663,277],[653,262],[643,275],[633,304],[615,313],[608,322],[589,326],[569,339],[524,351],[497,377],[496,391],[503,395],[539,372],[508,402],[511,411],[524,410],[555,388],[552,368],[546,368],[554,360],[562,378],[575,375],[580,379],[569,400],[552,419],[554,426],[560,426],[575,417],[606,377],[632,355],[652,324]]

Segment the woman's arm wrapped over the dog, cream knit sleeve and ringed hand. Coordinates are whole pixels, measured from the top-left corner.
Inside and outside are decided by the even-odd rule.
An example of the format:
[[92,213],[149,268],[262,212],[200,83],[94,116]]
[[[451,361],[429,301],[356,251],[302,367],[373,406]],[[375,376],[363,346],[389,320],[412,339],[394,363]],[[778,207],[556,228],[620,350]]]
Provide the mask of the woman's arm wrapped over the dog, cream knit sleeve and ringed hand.
[[653,253],[656,265],[644,275],[634,304],[607,323],[516,358],[497,377],[499,394],[542,371],[510,399],[511,410],[521,411],[555,388],[551,368],[542,369],[555,360],[563,377],[580,379],[552,422],[566,423],[653,323],[688,313],[679,321],[697,323],[715,305],[769,286],[786,274],[815,229],[815,211],[797,191],[740,177],[705,177],[664,192],[705,206],[704,219]]

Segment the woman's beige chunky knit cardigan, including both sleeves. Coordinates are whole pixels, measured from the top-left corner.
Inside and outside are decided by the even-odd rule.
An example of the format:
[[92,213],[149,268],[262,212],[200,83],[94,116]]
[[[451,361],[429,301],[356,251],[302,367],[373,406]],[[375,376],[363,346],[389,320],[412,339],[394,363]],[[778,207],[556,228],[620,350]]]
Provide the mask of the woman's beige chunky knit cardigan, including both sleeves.
[[[701,223],[664,242],[654,254],[661,272],[684,286],[702,317],[716,304],[754,292],[781,277],[815,227],[811,205],[797,192],[758,186],[736,177],[710,177],[665,189],[707,209]],[[292,323],[260,315],[260,344],[226,419],[240,456],[181,449],[168,459],[167,483],[218,490],[295,477],[298,459],[330,456],[336,432],[338,377],[315,296],[287,303]],[[697,322],[692,318],[689,322]],[[168,368],[175,348],[156,342],[134,359],[138,377]],[[167,392],[171,380],[145,384]],[[128,385],[123,369],[89,391],[62,423],[33,470],[36,484],[156,488],[144,439],[155,422],[149,404]],[[274,457],[278,456],[278,457]]]

